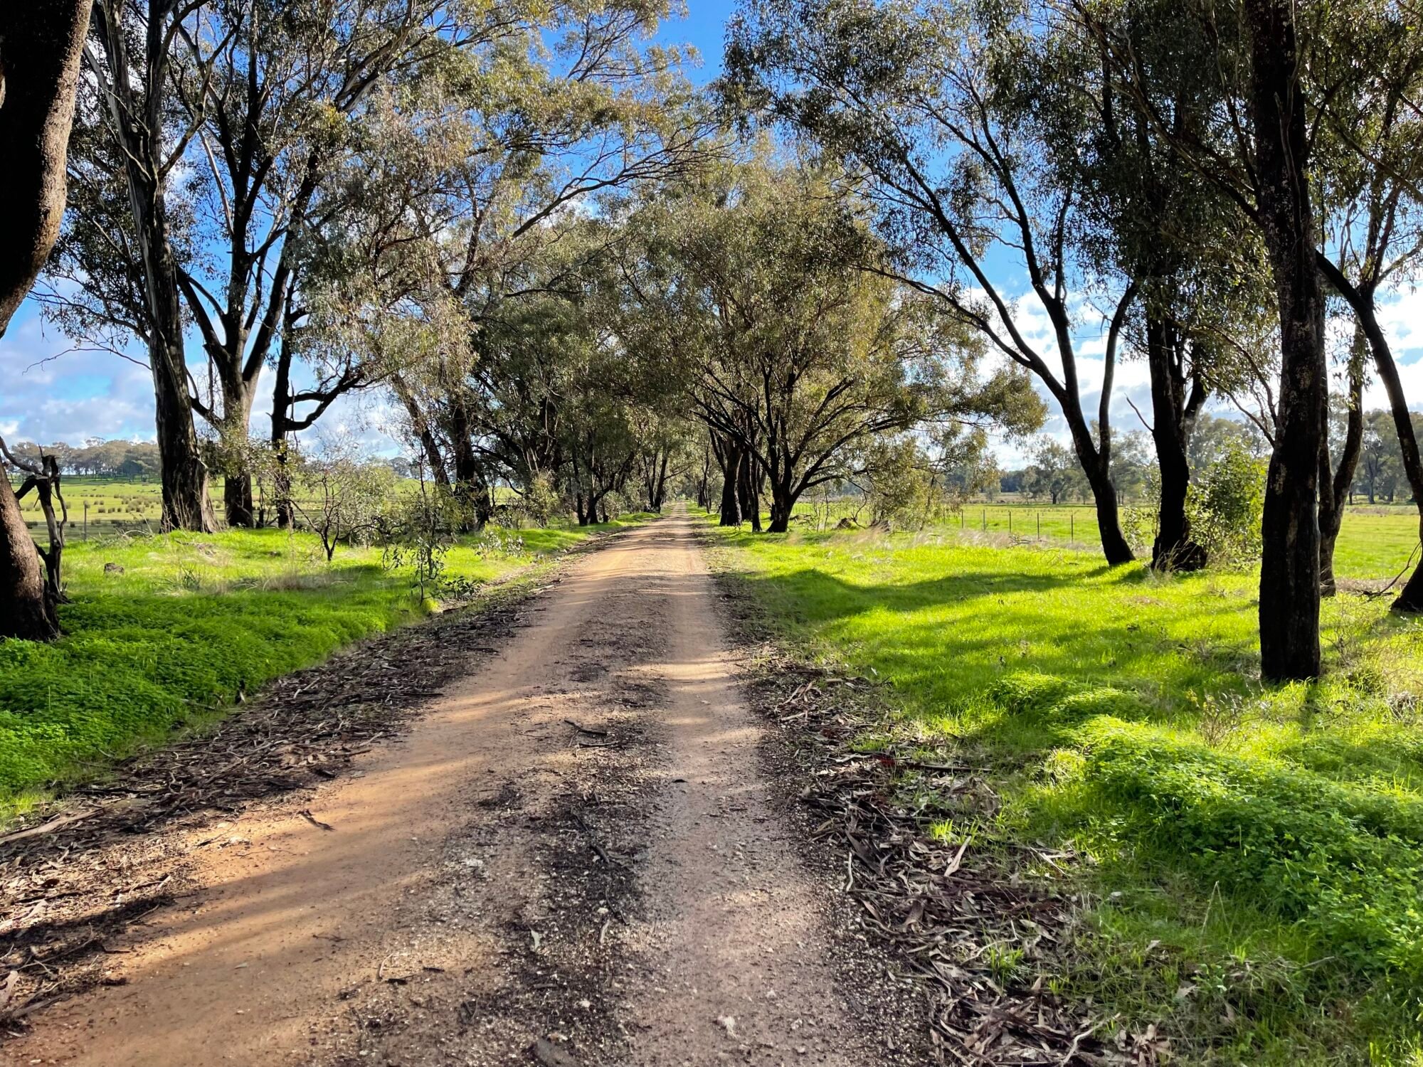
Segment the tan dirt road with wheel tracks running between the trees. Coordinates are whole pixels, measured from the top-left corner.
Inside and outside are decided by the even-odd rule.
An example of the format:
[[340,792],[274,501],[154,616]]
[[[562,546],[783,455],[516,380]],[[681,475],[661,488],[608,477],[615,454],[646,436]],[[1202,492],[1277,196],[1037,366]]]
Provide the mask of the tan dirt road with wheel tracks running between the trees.
[[630,532],[404,741],[205,829],[199,892],[114,956],[121,984],[0,1058],[914,1063],[763,744],[692,521]]

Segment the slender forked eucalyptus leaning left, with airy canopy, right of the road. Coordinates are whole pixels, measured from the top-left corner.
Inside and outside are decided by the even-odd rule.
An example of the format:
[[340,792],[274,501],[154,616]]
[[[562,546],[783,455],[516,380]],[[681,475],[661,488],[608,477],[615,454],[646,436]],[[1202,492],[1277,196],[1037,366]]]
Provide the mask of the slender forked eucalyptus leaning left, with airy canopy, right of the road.
[[[1091,485],[1103,552],[1124,563],[1111,397],[1138,293],[1130,282],[1090,292],[1070,240],[1079,191],[1043,165],[1039,131],[995,84],[1032,33],[999,6],[963,0],[754,0],[731,21],[723,85],[737,110],[790,125],[862,176],[894,252],[879,269],[1052,394]],[[1026,279],[1026,292],[1009,277]],[[1093,383],[1080,376],[1089,296],[1104,302],[1096,428]]]

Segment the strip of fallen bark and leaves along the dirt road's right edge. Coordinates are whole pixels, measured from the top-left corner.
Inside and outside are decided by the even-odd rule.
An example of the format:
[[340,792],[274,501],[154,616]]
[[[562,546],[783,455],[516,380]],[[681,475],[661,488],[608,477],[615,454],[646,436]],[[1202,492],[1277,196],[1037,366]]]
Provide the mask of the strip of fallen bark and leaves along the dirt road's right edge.
[[[885,751],[854,741],[891,728],[895,699],[879,681],[811,662],[805,647],[777,633],[734,565],[734,548],[714,528],[697,529],[717,590],[717,606],[739,664],[747,704],[767,724],[761,761],[784,807],[805,828],[803,862],[837,885],[834,905],[844,959],[865,950],[889,962],[914,990],[906,1029],[928,1063],[1137,1064],[1170,1058],[1170,1041],[1151,1027],[1099,1039],[1103,1019],[1090,1004],[1066,1002],[1043,982],[995,973],[985,946],[1020,952],[1022,975],[1050,972],[1079,923],[1072,896],[1025,879],[1023,871],[969,855],[926,835],[911,811],[904,775],[939,788],[963,811],[990,814],[992,785],[952,763],[918,761],[912,737]],[[891,730],[891,733],[895,733]],[[902,733],[902,731],[901,731]],[[952,758],[952,757],[946,757]],[[858,945],[857,945],[858,943]]]

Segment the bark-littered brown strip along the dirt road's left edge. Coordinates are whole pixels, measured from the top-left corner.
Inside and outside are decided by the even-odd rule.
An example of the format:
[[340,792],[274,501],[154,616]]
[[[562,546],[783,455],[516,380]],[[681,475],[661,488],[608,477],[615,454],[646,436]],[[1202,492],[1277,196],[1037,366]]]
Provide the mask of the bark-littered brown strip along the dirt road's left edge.
[[[356,755],[407,734],[440,687],[475,670],[579,558],[638,528],[595,534],[468,605],[273,679],[216,723],[179,730],[6,827],[53,829],[0,845],[0,1047],[44,1009],[124,980],[114,965],[127,940],[142,940],[148,916],[202,892],[186,848],[194,832],[300,807],[344,778]],[[381,667],[393,660],[398,670]]]

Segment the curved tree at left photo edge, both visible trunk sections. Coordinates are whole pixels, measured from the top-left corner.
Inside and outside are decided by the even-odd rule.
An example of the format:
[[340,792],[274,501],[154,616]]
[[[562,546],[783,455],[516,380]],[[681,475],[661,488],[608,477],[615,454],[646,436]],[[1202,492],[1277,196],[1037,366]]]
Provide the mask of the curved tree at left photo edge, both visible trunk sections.
[[[60,232],[88,18],[85,0],[34,0],[0,16],[0,199],[6,205],[0,212],[0,337]],[[53,592],[0,462],[0,637],[54,637]]]

